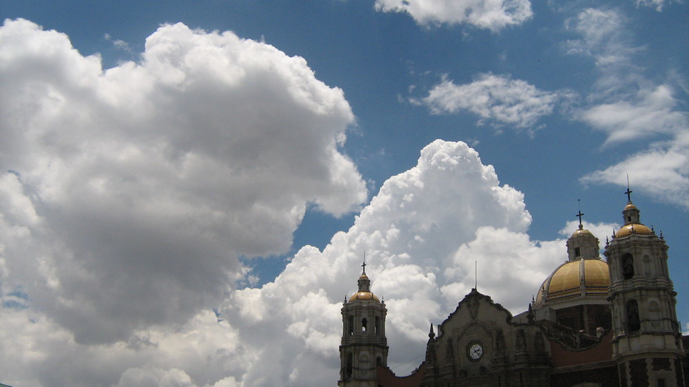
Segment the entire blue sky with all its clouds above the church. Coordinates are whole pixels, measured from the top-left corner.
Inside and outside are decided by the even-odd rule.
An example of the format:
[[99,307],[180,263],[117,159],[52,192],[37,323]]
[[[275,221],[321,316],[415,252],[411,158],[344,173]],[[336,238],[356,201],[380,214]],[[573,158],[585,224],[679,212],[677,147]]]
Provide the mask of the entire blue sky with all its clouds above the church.
[[480,291],[524,311],[578,200],[601,247],[619,227],[627,176],[689,330],[685,3],[0,16],[2,383],[331,384],[364,251],[404,375],[474,261]]

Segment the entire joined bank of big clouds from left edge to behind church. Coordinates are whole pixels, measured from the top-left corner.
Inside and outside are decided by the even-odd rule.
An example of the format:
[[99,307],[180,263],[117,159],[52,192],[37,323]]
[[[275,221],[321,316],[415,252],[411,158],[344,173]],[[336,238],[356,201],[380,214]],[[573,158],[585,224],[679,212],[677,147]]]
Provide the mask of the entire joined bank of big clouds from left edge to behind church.
[[517,313],[566,258],[564,240],[528,238],[522,193],[475,150],[437,140],[323,251],[238,290],[237,256],[284,253],[309,203],[365,200],[340,90],[231,32],[164,25],[139,63],[103,71],[23,20],[0,28],[0,83],[3,383],[331,385],[364,253],[404,374],[475,262],[479,290]]

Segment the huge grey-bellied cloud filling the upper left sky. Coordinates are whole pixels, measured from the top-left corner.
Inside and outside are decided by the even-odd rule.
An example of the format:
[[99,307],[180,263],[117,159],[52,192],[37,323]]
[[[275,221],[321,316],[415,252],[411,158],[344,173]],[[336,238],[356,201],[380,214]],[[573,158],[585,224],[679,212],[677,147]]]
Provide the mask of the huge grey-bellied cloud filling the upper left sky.
[[309,203],[367,198],[339,150],[342,90],[232,32],[163,25],[140,63],[104,71],[6,21],[0,90],[2,290],[77,342],[183,322],[227,295],[239,255],[285,253]]

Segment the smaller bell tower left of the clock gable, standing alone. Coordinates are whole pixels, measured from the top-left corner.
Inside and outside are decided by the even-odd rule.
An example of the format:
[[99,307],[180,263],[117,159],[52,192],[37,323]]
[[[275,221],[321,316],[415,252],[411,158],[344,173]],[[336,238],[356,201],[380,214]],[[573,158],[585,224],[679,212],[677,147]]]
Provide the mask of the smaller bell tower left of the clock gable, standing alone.
[[371,293],[366,262],[361,265],[359,290],[342,304],[342,345],[338,386],[378,387],[376,366],[387,367],[385,302]]

